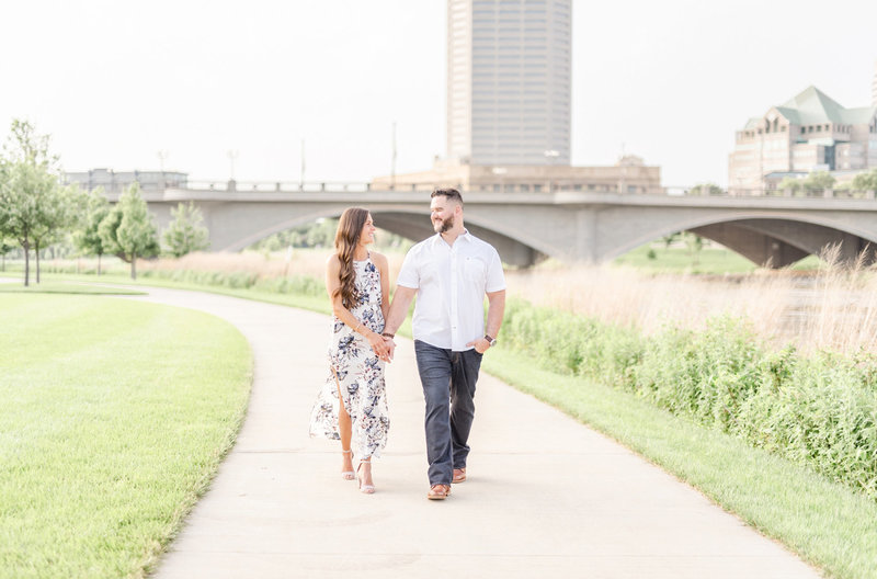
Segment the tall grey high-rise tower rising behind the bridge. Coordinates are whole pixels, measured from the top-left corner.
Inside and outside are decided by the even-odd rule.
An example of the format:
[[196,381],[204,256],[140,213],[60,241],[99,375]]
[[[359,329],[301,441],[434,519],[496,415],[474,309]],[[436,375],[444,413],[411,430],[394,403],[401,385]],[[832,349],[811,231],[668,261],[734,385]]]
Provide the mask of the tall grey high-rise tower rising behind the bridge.
[[569,164],[571,11],[571,0],[448,0],[448,160]]

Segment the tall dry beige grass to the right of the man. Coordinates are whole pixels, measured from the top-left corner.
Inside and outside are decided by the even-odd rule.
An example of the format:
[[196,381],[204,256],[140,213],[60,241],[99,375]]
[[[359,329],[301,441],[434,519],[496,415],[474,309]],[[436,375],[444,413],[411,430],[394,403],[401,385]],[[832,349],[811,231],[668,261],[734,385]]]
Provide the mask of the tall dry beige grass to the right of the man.
[[805,352],[877,352],[877,275],[864,256],[842,263],[839,248],[817,272],[760,270],[705,276],[631,268],[574,266],[508,272],[511,295],[652,334],[667,325],[703,330],[709,318],[751,321],[776,347]]

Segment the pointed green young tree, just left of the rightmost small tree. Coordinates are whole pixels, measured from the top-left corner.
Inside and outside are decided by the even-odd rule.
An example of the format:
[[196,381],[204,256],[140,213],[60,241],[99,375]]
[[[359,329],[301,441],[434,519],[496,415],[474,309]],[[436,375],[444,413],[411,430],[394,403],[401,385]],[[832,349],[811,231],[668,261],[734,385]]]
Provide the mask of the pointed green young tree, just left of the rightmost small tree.
[[109,253],[130,263],[132,280],[137,279],[137,258],[151,258],[159,252],[156,224],[137,183],[122,194],[98,231]]

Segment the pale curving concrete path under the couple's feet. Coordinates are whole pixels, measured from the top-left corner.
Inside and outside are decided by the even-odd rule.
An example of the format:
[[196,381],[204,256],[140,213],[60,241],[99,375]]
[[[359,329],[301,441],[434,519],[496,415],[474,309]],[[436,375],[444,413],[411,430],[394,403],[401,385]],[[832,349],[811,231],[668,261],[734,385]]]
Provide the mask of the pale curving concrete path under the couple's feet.
[[[153,575],[192,578],[816,578],[819,574],[627,449],[483,375],[469,480],[428,501],[423,397],[410,341],[387,371],[390,438],[377,492],[308,438],[329,319],[214,294],[147,302],[237,326],[255,376],[247,420]],[[486,355],[490,355],[488,352]]]

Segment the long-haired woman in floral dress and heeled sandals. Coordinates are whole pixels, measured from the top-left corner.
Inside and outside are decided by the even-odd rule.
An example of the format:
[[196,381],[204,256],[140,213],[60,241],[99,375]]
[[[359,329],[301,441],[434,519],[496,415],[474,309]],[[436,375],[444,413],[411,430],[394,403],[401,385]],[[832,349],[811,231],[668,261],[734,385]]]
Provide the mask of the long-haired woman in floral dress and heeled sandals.
[[[326,263],[326,291],[334,314],[329,343],[329,376],[314,406],[310,435],[341,441],[341,475],[375,491],[372,457],[387,443],[389,416],[384,386],[387,344],[384,316],[389,308],[387,258],[368,250],[375,224],[367,209],[341,215],[335,252]],[[353,446],[351,447],[351,442]],[[353,472],[353,452],[360,461]]]

